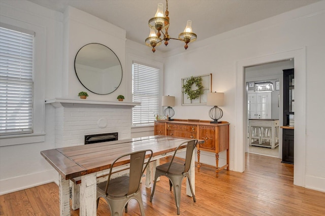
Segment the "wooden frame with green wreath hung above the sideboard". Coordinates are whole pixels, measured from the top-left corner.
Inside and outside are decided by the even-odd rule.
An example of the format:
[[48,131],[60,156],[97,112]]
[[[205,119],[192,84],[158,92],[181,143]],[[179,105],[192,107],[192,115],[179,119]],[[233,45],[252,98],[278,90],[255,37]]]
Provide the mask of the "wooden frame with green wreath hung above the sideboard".
[[182,105],[205,105],[211,80],[212,74],[182,78]]

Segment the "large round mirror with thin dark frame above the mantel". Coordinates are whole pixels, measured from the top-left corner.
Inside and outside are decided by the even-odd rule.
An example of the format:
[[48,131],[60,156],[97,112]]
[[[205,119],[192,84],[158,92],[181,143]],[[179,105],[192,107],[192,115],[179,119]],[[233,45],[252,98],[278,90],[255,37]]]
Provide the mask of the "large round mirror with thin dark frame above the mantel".
[[83,46],[75,58],[75,71],[80,83],[96,94],[110,94],[122,81],[120,60],[102,44]]

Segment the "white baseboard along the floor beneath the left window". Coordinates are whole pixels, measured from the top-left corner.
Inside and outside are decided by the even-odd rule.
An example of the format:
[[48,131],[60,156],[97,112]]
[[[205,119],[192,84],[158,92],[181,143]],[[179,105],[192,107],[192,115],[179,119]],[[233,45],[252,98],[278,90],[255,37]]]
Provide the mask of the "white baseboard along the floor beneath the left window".
[[0,195],[44,185],[50,182],[55,182],[58,185],[58,173],[54,169],[3,179],[0,181]]

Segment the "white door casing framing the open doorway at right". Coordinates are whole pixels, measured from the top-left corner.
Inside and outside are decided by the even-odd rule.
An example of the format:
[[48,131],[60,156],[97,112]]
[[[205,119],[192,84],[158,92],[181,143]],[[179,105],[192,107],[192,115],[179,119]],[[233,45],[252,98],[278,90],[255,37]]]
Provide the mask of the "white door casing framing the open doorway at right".
[[234,170],[245,170],[245,135],[247,134],[247,114],[245,110],[245,71],[244,67],[261,63],[269,63],[278,60],[295,59],[295,81],[297,98],[297,110],[295,120],[299,122],[295,126],[295,170],[294,184],[305,187],[306,169],[306,48],[283,51],[276,54],[244,59],[235,62],[236,66],[236,125],[234,146]]

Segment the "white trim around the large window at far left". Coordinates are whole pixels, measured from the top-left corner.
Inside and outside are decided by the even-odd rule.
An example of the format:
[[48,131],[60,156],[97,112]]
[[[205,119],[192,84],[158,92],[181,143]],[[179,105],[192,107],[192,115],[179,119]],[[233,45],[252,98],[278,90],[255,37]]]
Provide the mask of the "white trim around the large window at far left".
[[33,132],[0,136],[0,147],[45,141],[45,73],[46,29],[41,26],[0,16],[0,25],[13,29],[22,28],[35,32]]

